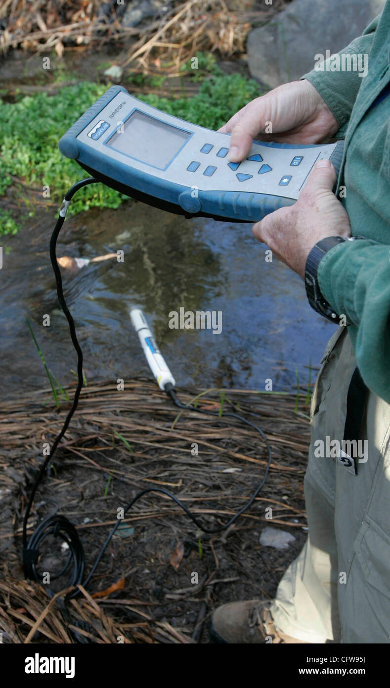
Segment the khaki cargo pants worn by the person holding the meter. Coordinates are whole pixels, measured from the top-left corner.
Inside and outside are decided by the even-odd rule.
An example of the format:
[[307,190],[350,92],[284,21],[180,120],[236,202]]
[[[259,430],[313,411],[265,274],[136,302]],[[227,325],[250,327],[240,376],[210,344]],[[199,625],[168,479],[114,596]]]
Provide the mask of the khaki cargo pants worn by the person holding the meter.
[[308,643],[389,643],[390,405],[368,392],[360,429],[367,461],[360,459],[357,475],[335,458],[317,458],[316,440],[343,440],[356,368],[346,328],[330,339],[321,363],[305,477],[308,540],[271,612],[280,631]]

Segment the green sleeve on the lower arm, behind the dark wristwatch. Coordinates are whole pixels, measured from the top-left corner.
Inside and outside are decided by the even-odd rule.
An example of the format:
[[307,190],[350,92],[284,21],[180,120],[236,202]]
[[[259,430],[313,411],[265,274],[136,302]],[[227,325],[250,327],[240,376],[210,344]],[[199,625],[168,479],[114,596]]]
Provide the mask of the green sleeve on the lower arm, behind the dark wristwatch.
[[390,246],[370,239],[334,246],[319,263],[319,287],[345,314],[360,374],[390,403]]

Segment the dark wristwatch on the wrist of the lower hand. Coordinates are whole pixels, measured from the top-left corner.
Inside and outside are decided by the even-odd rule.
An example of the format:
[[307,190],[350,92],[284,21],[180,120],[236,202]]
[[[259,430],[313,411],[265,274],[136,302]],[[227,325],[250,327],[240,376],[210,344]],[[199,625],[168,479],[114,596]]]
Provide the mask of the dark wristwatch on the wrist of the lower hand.
[[317,313],[330,320],[331,323],[339,324],[339,314],[334,311],[330,303],[325,301],[321,294],[317,278],[319,262],[325,253],[328,253],[337,244],[341,244],[344,241],[354,241],[355,239],[367,239],[367,237],[356,236],[348,237],[348,239],[343,239],[343,237],[326,237],[326,239],[321,239],[313,246],[306,260],[305,286],[308,301]]

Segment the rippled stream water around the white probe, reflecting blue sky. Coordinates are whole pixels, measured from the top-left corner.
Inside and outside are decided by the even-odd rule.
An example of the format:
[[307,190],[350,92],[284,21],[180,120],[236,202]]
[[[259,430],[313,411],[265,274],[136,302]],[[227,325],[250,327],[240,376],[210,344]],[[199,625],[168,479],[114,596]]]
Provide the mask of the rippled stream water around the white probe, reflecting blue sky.
[[[56,299],[49,238],[56,213],[36,215],[16,237],[3,238],[1,332],[3,396],[47,387],[25,316],[60,383],[74,380],[76,354]],[[67,219],[58,256],[92,258],[117,249],[124,262],[62,270],[76,320],[87,379],[148,374],[128,309],[144,310],[180,385],[292,389],[295,368],[308,380],[334,325],[306,301],[303,282],[253,239],[248,224],[186,220],[141,203],[93,209]],[[171,310],[220,310],[222,333],[170,330]],[[43,315],[50,327],[43,327]],[[312,379],[314,374],[312,374]]]

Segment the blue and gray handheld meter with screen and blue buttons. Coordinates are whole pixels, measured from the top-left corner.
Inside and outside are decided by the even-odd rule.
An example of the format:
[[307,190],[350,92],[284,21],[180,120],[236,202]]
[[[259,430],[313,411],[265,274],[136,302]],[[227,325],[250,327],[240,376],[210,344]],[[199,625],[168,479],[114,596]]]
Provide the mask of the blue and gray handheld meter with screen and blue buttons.
[[245,160],[229,162],[229,139],[113,86],[58,146],[95,179],[149,205],[236,222],[255,222],[295,203],[317,160],[329,158],[339,173],[343,141],[253,141]]

